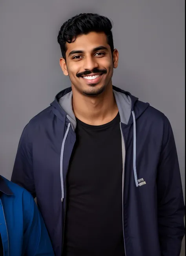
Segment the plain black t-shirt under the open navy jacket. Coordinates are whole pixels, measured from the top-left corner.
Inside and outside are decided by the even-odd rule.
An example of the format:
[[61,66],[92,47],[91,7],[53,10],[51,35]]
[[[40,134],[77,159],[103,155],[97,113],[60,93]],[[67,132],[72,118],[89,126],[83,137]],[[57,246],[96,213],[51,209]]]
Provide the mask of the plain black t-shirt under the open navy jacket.
[[124,256],[119,113],[92,126],[77,119],[67,172],[64,256]]

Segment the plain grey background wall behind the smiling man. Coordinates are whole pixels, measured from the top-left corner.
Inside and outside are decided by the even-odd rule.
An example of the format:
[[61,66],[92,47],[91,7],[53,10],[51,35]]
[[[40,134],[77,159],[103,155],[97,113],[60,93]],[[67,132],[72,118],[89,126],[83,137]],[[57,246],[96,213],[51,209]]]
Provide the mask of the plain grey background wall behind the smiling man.
[[0,174],[11,178],[27,122],[70,86],[57,34],[82,12],[113,20],[113,84],[170,119],[184,189],[184,0],[0,0]]

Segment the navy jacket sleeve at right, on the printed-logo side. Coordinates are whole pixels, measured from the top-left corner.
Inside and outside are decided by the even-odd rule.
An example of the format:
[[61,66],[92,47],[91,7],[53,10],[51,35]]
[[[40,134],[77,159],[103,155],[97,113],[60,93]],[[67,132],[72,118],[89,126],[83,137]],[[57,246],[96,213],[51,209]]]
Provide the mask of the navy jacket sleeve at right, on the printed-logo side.
[[171,124],[165,119],[157,173],[158,225],[162,256],[179,256],[184,237],[184,199]]

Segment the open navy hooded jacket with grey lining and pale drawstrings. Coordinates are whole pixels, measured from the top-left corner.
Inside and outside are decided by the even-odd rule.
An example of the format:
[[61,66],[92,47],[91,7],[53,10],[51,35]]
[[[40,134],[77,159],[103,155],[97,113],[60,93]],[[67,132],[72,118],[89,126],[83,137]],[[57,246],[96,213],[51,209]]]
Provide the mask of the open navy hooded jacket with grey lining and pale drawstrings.
[[[121,120],[126,256],[179,256],[184,200],[170,122],[130,93],[114,86],[113,93]],[[63,247],[66,174],[76,140],[71,100],[70,87],[27,124],[12,175],[37,197],[56,256]]]

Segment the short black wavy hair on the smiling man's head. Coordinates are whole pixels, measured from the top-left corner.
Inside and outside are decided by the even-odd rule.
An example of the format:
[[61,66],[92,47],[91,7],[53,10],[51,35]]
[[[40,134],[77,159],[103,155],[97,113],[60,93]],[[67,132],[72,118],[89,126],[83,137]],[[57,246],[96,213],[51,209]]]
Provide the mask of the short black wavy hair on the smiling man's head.
[[60,45],[62,56],[66,59],[66,43],[72,43],[78,35],[86,35],[89,32],[104,32],[108,45],[113,53],[112,22],[107,17],[94,13],[80,13],[67,20],[60,28],[57,41]]

